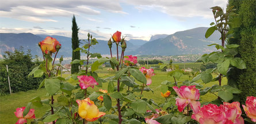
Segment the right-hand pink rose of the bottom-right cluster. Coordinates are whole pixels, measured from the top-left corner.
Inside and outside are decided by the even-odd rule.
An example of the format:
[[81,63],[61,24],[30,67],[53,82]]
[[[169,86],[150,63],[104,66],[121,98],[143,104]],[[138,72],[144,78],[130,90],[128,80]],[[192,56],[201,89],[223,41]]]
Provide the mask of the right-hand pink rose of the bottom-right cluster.
[[241,117],[242,111],[239,102],[223,102],[223,104],[220,104],[220,107],[223,107],[223,112],[226,115],[226,123],[244,123],[243,118]]

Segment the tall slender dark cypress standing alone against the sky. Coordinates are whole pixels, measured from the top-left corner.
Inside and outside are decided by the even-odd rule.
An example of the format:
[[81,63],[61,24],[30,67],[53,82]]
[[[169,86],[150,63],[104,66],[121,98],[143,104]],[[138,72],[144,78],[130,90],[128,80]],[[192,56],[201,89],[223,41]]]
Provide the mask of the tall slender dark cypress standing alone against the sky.
[[[75,21],[75,15],[72,18],[72,61],[75,59],[80,60],[80,51],[74,51],[79,48],[79,38],[78,38],[79,28],[77,22]],[[71,64],[71,73],[79,72],[79,63]]]

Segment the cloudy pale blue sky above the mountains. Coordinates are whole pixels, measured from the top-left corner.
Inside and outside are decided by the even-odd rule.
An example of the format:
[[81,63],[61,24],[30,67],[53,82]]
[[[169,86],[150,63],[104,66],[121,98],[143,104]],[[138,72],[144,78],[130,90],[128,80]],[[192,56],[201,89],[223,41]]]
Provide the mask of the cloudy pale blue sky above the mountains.
[[210,7],[227,0],[0,0],[0,33],[33,33],[71,37],[72,17],[79,38],[87,33],[108,40],[119,30],[130,39],[209,27]]

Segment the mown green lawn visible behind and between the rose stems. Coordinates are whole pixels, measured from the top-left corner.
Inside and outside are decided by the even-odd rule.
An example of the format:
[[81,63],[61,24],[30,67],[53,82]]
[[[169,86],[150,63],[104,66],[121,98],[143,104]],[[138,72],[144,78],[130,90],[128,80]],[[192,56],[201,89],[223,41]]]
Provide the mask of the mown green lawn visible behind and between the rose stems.
[[[184,64],[180,64],[181,66],[184,66]],[[185,64],[186,66],[194,66],[190,64]],[[108,76],[114,75],[114,72],[108,72],[107,68],[99,69],[97,71],[98,75],[101,78],[107,78]],[[167,72],[161,72],[161,71],[155,71],[156,75],[152,77],[152,84],[150,85],[150,88],[154,90],[154,94],[150,92],[143,92],[144,98],[150,98],[155,100],[156,103],[163,103],[165,101],[165,98],[161,96],[161,83],[165,80],[168,80],[170,82],[174,82],[174,79],[170,76],[167,76]],[[67,74],[63,74],[63,77],[68,76]],[[216,75],[213,75],[213,78],[215,78]],[[188,75],[184,75],[179,79],[178,81],[184,81],[189,80]],[[190,79],[191,80],[191,79]],[[201,82],[199,80],[198,82]],[[75,85],[76,82],[71,82],[73,85]],[[223,84],[227,83],[227,79],[223,79]],[[138,83],[139,84],[139,83]],[[202,84],[204,87],[211,87],[213,84],[218,84],[217,82],[211,82],[207,84]],[[103,83],[103,89],[107,89],[108,83]],[[92,89],[89,88],[89,91],[98,91],[98,87],[94,87]],[[40,90],[30,90],[27,92],[17,92],[13,93],[12,95],[6,95],[6,96],[0,96],[0,123],[16,123],[18,120],[16,116],[14,115],[14,111],[16,111],[17,107],[23,107],[26,106],[26,104],[29,102],[30,99],[40,96],[41,99],[47,99],[49,96],[46,96],[47,92],[44,88],[41,88]],[[216,99],[215,95],[212,94],[206,94],[201,97],[202,102],[207,102]],[[113,100],[114,101],[114,100]],[[113,102],[114,104],[114,102]],[[154,106],[156,107],[156,106]],[[32,106],[32,108],[35,108],[35,115],[36,118],[40,118],[43,116],[44,112],[48,110],[49,106],[43,106],[41,108]]]

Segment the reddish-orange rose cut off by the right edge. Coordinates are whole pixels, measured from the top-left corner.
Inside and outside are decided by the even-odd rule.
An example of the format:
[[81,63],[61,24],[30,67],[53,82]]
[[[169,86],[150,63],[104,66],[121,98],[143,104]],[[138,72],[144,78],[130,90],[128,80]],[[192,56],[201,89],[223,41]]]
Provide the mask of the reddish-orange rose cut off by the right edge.
[[243,106],[243,110],[245,111],[247,117],[251,118],[251,121],[256,122],[256,97],[247,96],[246,106]]

